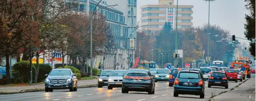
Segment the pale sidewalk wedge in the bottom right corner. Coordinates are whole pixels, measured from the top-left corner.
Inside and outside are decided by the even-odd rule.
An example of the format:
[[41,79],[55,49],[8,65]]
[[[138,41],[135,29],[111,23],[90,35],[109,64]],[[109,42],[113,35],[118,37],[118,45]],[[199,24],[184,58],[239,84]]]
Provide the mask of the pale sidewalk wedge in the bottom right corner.
[[255,78],[251,78],[233,90],[211,98],[211,101],[255,101]]

